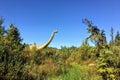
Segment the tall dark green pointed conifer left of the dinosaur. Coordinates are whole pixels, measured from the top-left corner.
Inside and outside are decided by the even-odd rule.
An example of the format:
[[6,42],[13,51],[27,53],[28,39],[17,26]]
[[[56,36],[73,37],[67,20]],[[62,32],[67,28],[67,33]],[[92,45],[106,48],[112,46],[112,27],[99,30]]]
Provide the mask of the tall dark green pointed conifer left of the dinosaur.
[[21,75],[22,61],[20,56],[23,46],[21,43],[22,39],[20,37],[20,33],[17,27],[15,27],[13,24],[10,24],[10,27],[7,30],[6,39],[6,48],[8,51],[6,53],[8,54],[8,63],[10,64],[8,65],[8,73],[11,74],[10,77],[14,76],[13,79],[15,79],[15,77],[17,79]]

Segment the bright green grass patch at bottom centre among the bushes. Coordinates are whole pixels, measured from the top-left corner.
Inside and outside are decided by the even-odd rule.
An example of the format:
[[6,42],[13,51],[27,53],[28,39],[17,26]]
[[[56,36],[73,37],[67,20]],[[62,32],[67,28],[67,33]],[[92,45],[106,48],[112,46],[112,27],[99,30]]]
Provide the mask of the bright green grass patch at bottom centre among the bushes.
[[73,64],[67,67],[63,74],[56,77],[49,77],[47,80],[101,80],[99,76],[89,73],[88,66]]

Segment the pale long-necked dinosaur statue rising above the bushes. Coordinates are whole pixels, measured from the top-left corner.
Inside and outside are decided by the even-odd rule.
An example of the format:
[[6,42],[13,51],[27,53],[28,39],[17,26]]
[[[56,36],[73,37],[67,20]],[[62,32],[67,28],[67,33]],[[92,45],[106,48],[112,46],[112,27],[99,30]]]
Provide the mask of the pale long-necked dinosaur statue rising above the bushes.
[[47,42],[45,42],[43,45],[41,46],[38,46],[37,44],[33,44],[33,45],[30,45],[30,49],[32,49],[33,47],[36,47],[37,49],[44,49],[46,48],[50,43],[51,41],[53,40],[53,37],[55,35],[55,33],[57,33],[58,31],[57,30],[54,30],[49,38],[49,40]]

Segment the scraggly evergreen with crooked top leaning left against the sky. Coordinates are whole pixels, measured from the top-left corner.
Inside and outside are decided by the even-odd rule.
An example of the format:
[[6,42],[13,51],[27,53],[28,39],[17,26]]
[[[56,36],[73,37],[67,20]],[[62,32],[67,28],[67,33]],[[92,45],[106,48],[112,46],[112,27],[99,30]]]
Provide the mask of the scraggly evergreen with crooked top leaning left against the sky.
[[102,47],[103,44],[106,44],[106,36],[105,31],[100,30],[97,26],[93,25],[91,21],[88,19],[83,19],[83,23],[87,24],[87,31],[90,33],[90,36],[86,38],[86,43],[88,39],[91,39],[92,42],[99,48]]

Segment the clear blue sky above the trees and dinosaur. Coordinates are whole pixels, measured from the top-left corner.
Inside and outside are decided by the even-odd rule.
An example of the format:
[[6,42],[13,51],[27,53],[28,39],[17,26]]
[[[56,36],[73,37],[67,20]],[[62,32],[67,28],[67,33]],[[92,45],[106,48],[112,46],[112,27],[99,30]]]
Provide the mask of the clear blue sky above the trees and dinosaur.
[[104,29],[110,40],[110,28],[120,31],[120,0],[0,0],[0,16],[4,25],[10,22],[20,30],[23,42],[41,45],[57,29],[49,46],[80,46],[89,36],[88,18]]

